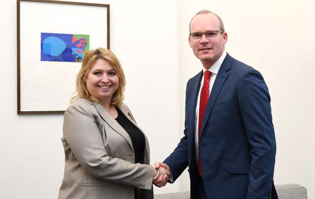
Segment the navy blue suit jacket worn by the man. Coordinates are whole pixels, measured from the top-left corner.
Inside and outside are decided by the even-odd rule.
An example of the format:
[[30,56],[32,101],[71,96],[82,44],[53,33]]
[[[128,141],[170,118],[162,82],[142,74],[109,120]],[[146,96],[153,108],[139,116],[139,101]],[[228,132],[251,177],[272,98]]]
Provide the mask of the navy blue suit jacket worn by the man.
[[[175,181],[189,167],[191,198],[198,175],[195,109],[202,71],[188,81],[185,136],[164,160]],[[210,93],[199,142],[208,199],[277,199],[273,186],[276,140],[270,95],[261,74],[226,55]]]

